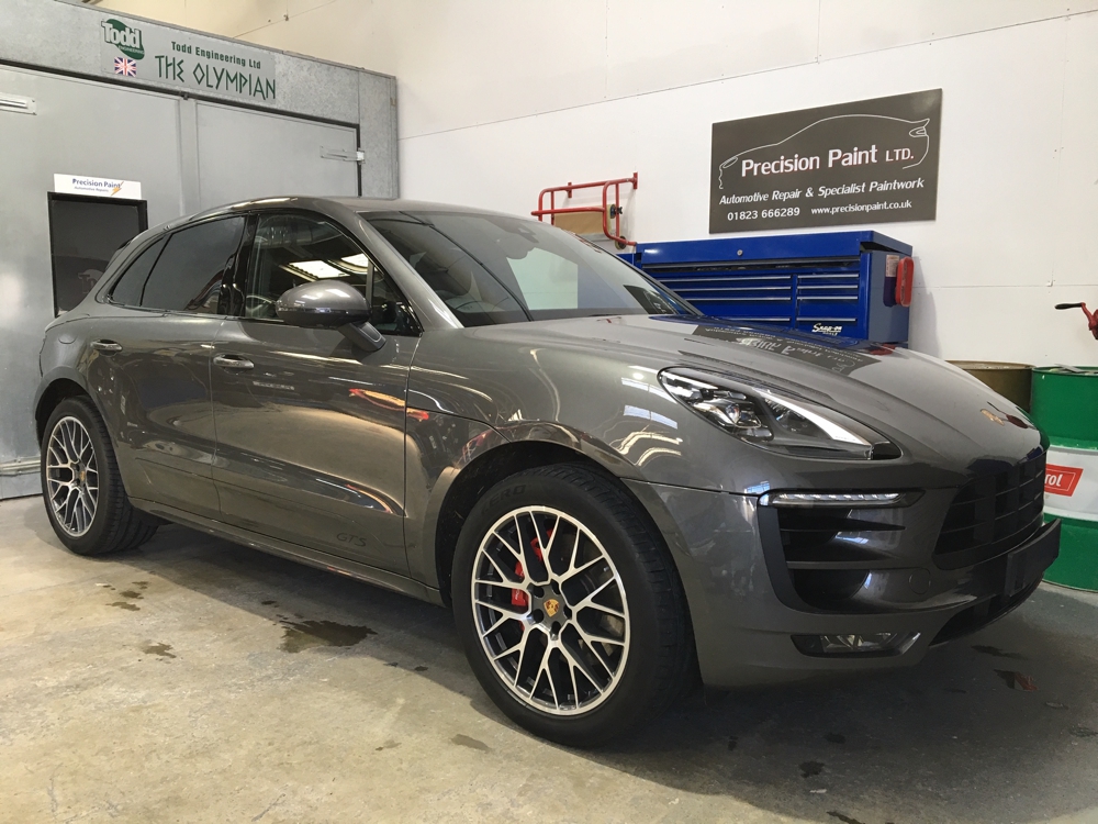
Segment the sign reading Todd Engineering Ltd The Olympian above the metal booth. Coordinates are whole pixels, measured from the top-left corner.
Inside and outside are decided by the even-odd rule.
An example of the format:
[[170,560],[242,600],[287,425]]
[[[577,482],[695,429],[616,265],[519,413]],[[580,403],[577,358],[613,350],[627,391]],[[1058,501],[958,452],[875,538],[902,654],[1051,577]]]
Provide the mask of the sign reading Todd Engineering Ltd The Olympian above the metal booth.
[[268,52],[155,25],[101,22],[100,67],[122,80],[273,103],[278,86]]

